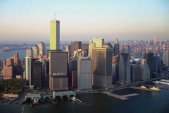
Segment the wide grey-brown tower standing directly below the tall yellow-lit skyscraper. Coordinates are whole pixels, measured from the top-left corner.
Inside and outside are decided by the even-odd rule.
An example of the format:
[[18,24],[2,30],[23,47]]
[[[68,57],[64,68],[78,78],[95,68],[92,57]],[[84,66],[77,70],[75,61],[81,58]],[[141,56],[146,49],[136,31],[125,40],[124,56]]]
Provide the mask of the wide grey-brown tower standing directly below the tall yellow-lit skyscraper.
[[50,90],[68,89],[68,52],[49,51]]

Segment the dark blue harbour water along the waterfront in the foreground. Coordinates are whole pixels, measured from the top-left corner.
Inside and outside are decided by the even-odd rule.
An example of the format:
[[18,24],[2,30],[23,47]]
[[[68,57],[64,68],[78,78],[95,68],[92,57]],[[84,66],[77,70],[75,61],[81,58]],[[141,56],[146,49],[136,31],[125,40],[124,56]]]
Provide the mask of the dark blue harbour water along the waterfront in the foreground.
[[83,101],[63,102],[58,105],[45,104],[36,107],[30,105],[0,104],[0,113],[169,113],[169,90],[160,92],[134,89],[120,90],[117,93],[137,93],[128,100],[119,100],[105,94],[83,94],[77,97]]

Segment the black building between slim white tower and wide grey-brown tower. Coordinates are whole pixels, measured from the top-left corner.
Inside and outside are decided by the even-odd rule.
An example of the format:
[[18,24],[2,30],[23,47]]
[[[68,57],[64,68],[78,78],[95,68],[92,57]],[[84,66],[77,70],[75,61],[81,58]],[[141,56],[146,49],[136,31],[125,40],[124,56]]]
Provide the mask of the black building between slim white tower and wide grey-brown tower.
[[46,76],[46,64],[45,62],[32,59],[31,65],[31,85],[35,89],[41,89],[45,87]]

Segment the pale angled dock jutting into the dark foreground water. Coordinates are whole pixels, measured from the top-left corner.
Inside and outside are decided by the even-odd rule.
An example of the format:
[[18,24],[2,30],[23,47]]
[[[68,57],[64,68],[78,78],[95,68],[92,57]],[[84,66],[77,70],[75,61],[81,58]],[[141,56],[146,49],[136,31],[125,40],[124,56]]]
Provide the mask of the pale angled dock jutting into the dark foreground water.
[[126,95],[118,95],[118,94],[114,94],[112,92],[103,92],[104,94],[107,94],[108,96],[112,96],[114,98],[118,98],[118,99],[121,99],[121,100],[127,100],[129,99],[129,97],[132,97],[132,96],[137,96],[139,94],[137,93],[132,93],[132,94],[126,94]]

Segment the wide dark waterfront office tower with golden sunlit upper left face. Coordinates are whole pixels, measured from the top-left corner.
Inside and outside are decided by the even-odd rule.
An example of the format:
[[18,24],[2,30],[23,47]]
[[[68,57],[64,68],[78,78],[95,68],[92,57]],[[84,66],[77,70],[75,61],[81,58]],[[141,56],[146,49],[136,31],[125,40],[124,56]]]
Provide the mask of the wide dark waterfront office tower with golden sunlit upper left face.
[[105,88],[112,85],[112,48],[92,49],[93,87]]

